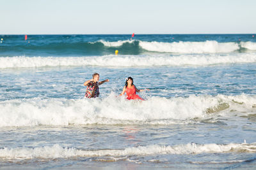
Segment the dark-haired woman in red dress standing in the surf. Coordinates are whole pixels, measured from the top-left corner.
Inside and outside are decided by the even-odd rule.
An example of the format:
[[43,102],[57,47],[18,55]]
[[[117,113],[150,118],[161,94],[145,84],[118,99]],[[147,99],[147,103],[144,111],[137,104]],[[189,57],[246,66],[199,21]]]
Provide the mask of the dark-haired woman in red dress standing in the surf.
[[[148,89],[145,89],[145,90],[148,90]],[[122,96],[126,92],[127,99],[129,100],[140,99],[144,101],[144,99],[141,99],[141,97],[138,96],[138,94],[136,94],[136,92],[142,92],[142,91],[144,90],[139,90],[136,88],[135,85],[133,85],[133,79],[129,77],[125,82],[123,92],[120,94],[120,96]]]

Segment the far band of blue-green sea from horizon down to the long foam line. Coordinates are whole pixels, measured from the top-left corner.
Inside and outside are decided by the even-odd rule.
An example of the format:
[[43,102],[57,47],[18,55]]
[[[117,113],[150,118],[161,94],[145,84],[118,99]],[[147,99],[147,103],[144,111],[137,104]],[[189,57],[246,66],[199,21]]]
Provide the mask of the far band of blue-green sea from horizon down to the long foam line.
[[[3,35],[1,38],[3,38],[0,46],[1,56],[6,57],[99,56],[114,54],[115,50],[122,55],[177,51],[193,53],[189,49],[194,50],[195,53],[196,50],[214,53],[221,46],[227,48],[228,52],[256,50],[256,38],[253,34],[152,34],[136,35],[132,40],[131,35],[28,35],[26,41],[24,35]],[[195,44],[200,42],[201,45]],[[178,45],[175,46],[175,43]]]

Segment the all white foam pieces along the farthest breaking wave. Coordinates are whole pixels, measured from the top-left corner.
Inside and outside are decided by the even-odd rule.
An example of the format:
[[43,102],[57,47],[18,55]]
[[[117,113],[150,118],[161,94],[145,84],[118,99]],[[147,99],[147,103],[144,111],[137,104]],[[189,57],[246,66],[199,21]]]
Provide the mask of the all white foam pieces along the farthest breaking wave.
[[[136,41],[97,41],[103,43],[104,46],[123,46],[127,43],[134,43]],[[220,43],[218,41],[179,41],[172,43],[158,42],[158,41],[138,41],[138,45],[149,52],[168,52],[168,53],[229,53],[241,50],[241,47],[247,50],[256,50],[256,43],[248,42],[228,42]]]

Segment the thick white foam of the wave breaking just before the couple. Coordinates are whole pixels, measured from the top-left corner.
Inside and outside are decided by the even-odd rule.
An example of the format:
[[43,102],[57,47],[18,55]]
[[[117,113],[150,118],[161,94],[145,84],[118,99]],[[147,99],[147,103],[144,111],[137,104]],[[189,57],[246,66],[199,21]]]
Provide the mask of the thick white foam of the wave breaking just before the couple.
[[[173,120],[204,116],[204,99],[128,101],[124,97],[104,99],[29,99],[0,103],[0,126],[69,124],[172,124]],[[202,101],[203,100],[203,101]],[[186,106],[186,107],[185,107]]]

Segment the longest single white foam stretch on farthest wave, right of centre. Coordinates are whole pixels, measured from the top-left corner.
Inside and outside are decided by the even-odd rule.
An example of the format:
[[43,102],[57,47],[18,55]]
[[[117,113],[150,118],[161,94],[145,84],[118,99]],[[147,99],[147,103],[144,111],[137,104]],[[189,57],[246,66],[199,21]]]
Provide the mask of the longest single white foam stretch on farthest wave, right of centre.
[[148,51],[170,53],[228,53],[239,50],[237,43],[218,43],[217,41],[173,43],[140,41],[140,46]]

